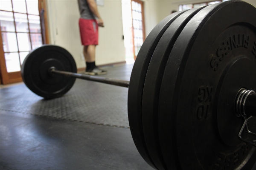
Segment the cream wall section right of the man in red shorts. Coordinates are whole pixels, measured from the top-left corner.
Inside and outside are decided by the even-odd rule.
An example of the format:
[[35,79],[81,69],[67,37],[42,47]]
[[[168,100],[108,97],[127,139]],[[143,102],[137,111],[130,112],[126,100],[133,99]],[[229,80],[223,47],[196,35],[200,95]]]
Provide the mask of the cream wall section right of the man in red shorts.
[[99,46],[96,49],[98,65],[125,61],[125,45],[122,40],[122,2],[104,0],[99,13],[104,20],[104,28],[99,29]]

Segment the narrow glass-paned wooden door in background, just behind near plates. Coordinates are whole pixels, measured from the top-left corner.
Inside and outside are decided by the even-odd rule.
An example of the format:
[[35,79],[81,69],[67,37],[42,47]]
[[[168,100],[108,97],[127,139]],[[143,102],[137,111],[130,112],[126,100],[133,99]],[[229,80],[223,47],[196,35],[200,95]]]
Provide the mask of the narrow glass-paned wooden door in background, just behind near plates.
[[133,40],[134,40],[134,59],[136,59],[138,52],[145,40],[144,28],[144,7],[140,0],[131,0],[132,11],[132,26],[133,26]]

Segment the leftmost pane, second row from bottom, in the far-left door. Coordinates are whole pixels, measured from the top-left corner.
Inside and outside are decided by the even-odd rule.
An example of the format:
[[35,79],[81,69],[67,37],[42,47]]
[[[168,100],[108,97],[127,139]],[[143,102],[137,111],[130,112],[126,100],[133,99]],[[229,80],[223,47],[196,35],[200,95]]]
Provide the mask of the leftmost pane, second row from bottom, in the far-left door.
[[2,39],[3,39],[3,51],[5,52],[18,51],[15,33],[2,32]]

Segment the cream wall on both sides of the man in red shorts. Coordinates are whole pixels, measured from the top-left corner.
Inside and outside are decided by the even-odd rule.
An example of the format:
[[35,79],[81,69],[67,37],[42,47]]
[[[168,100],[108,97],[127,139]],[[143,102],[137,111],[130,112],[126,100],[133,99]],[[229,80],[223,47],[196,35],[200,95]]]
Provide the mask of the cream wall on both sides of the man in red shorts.
[[[122,40],[121,0],[104,0],[98,6],[105,27],[99,28],[99,45],[96,47],[96,64],[104,65],[125,61]],[[50,44],[67,49],[74,57],[77,68],[85,67],[79,35],[80,17],[77,0],[47,0]]]

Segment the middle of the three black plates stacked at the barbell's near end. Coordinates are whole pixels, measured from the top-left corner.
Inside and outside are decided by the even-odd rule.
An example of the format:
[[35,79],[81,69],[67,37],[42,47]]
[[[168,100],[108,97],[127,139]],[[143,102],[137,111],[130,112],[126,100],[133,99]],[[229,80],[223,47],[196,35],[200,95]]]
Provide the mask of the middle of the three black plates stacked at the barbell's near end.
[[158,99],[163,72],[180,32],[186,26],[186,23],[202,8],[190,9],[172,22],[158,42],[148,66],[143,89],[142,124],[148,152],[158,170],[166,170],[167,167],[171,167],[173,164],[173,158],[164,162],[158,135]]

